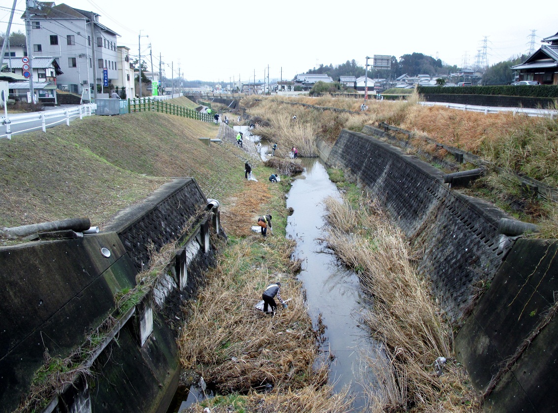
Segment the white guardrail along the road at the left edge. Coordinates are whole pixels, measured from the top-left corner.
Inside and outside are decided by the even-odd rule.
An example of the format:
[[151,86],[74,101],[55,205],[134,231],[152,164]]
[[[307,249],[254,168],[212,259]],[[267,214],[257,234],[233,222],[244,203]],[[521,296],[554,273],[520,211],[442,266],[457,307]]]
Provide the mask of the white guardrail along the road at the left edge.
[[84,116],[91,116],[93,111],[97,109],[97,104],[88,103],[75,107],[52,109],[44,112],[18,113],[6,116],[0,116],[0,124],[2,124],[4,132],[0,138],[11,139],[12,135],[17,133],[26,133],[42,129],[46,132],[46,128],[51,128],[57,124],[66,122],[70,126],[70,121],[75,118],[83,119]]

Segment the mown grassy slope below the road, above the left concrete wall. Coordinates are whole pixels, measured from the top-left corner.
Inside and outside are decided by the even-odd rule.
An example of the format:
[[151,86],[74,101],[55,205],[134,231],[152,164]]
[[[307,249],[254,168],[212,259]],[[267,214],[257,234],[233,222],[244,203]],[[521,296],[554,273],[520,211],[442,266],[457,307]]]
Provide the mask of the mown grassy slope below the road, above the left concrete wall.
[[170,177],[195,177],[211,198],[234,193],[246,153],[198,140],[217,132],[211,123],[143,112],[1,140],[0,227],[80,216],[102,226]]

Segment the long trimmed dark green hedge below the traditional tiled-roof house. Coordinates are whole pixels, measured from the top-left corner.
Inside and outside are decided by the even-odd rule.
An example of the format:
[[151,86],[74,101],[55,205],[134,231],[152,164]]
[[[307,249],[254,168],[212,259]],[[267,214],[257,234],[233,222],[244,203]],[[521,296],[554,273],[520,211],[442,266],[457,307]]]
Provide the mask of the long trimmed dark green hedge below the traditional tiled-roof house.
[[524,96],[532,98],[558,98],[558,85],[525,85],[525,86],[419,86],[422,94],[457,94],[457,95],[500,95]]

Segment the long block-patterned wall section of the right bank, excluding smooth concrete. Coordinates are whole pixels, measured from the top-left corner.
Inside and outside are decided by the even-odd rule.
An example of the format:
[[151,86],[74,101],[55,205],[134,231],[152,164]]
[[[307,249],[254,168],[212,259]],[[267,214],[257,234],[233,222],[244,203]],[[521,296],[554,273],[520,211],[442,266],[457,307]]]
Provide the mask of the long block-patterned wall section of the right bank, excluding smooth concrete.
[[348,169],[424,247],[419,270],[432,281],[449,319],[459,324],[475,284],[494,276],[509,249],[509,243],[499,248],[504,213],[449,190],[439,170],[362,133],[343,130],[327,164]]

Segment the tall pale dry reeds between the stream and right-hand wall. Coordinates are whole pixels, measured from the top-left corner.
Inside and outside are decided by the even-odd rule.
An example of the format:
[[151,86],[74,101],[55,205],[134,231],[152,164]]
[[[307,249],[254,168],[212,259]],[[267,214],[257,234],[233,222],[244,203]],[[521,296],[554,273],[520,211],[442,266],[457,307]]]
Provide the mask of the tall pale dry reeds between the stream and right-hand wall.
[[[387,363],[370,366],[384,383],[369,389],[379,404],[375,409],[478,410],[475,393],[463,384],[465,373],[454,361],[450,326],[417,275],[401,230],[372,201],[361,199],[358,210],[333,198],[324,204],[329,227],[323,241],[357,271],[374,300],[363,319],[387,355]],[[435,372],[439,357],[448,361],[440,376]]]

